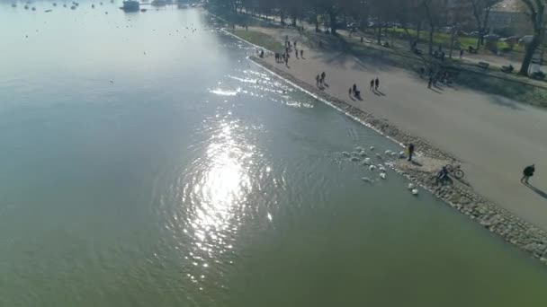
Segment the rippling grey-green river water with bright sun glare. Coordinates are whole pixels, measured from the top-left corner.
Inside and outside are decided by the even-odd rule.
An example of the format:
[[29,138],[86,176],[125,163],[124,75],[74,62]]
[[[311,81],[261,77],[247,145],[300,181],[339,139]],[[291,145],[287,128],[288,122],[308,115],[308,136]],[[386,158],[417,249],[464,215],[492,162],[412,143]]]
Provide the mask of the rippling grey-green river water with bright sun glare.
[[547,303],[543,266],[348,161],[399,148],[201,11],[33,5],[0,6],[0,305]]

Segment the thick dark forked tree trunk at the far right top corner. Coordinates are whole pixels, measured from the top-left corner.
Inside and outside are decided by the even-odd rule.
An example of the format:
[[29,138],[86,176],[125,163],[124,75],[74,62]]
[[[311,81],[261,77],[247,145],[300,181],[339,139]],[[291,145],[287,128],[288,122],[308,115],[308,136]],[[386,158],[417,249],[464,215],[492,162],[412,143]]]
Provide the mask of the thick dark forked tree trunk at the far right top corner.
[[525,4],[526,14],[530,17],[530,22],[532,22],[534,37],[526,46],[525,58],[518,74],[528,75],[528,68],[530,67],[530,63],[532,63],[535,49],[539,47],[542,41],[545,0],[522,0],[522,2]]

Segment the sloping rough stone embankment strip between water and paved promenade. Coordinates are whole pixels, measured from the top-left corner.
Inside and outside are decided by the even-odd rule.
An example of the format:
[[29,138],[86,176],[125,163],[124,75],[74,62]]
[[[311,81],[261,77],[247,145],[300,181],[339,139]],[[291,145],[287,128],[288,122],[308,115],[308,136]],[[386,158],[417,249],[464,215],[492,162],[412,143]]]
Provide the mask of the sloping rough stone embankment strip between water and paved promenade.
[[[306,92],[317,96],[320,100],[332,104],[337,110],[342,110],[345,114],[362,122],[367,127],[379,131],[381,134],[390,137],[399,142],[399,144],[413,143],[420,150],[420,155],[425,159],[436,160],[441,163],[457,162],[457,159],[449,153],[435,148],[425,140],[410,136],[408,133],[400,130],[393,124],[374,118],[371,114],[359,110],[349,103],[339,100],[327,92],[319,91],[316,87],[302,82],[294,76],[272,66],[264,59],[259,57],[250,57],[257,65],[263,66],[275,75],[296,84]],[[408,162],[395,162],[393,168],[402,175],[406,176],[424,189],[429,190],[436,197],[444,200],[448,205],[457,209],[464,215],[468,215],[471,220],[476,221],[490,232],[500,235],[505,241],[516,245],[521,250],[529,253],[535,259],[539,259],[547,265],[547,232],[529,224],[509,211],[496,206],[485,197],[481,197],[469,185],[464,182],[454,180],[452,184],[440,184],[436,180],[436,171],[422,167],[416,167]]]

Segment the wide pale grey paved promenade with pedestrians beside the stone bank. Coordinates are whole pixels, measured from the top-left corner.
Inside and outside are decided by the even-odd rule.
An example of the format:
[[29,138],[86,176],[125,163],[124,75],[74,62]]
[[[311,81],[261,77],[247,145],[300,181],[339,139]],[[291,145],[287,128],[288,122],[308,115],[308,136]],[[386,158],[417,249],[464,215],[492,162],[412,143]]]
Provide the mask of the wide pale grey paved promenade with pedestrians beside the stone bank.
[[[290,31],[259,31],[279,39],[292,33],[291,40],[299,39]],[[277,66],[309,84],[325,71],[328,93],[453,153],[480,194],[547,230],[547,111],[464,88],[428,90],[426,81],[416,75],[382,66],[373,58],[306,48],[304,56],[291,55],[290,67]],[[267,60],[274,63],[273,57]],[[368,90],[376,76],[382,95]],[[349,98],[353,83],[362,91],[363,101]],[[531,180],[535,191],[519,182],[530,163],[536,165]]]

